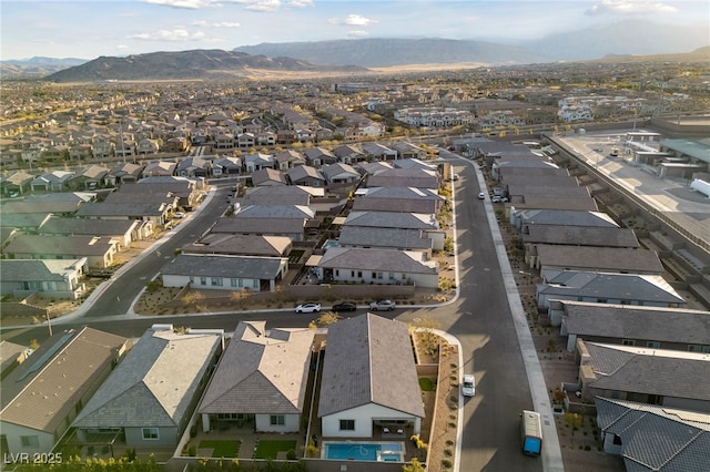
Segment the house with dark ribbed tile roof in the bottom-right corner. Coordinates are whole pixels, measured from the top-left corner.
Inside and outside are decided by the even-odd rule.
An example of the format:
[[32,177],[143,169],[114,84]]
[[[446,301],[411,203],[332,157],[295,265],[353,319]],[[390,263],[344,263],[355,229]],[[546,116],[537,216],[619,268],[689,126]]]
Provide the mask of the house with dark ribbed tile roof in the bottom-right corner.
[[710,414],[633,401],[595,399],[604,451],[627,471],[704,472]]

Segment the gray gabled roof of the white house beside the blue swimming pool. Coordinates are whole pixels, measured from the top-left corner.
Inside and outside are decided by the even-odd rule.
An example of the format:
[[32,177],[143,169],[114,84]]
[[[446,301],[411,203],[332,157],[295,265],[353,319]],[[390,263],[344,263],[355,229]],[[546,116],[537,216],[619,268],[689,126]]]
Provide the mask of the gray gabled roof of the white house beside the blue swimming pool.
[[369,403],[424,418],[407,325],[365,314],[328,327],[318,417]]

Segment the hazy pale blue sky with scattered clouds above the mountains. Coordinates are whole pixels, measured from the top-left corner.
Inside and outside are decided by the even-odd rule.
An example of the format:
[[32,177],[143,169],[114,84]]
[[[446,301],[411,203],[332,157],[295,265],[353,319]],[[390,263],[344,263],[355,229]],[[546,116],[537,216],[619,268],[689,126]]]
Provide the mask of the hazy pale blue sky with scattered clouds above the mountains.
[[95,59],[333,39],[537,39],[629,19],[710,31],[710,1],[0,0],[0,17],[2,60]]

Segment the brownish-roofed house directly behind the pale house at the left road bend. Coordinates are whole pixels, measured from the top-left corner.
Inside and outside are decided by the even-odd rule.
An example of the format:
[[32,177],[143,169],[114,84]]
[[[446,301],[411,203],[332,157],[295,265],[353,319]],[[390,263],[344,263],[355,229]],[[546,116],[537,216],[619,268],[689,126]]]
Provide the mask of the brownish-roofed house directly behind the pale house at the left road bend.
[[288,257],[293,242],[285,236],[229,235],[213,233],[183,246],[182,254]]

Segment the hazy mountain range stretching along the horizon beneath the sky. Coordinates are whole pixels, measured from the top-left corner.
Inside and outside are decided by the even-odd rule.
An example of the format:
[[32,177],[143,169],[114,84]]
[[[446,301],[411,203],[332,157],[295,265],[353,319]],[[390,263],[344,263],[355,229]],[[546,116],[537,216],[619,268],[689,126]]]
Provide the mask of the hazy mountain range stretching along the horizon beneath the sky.
[[[700,38],[700,40],[698,39]],[[262,43],[232,51],[152,52],[124,58],[32,58],[0,61],[3,79],[54,82],[113,80],[223,80],[292,74],[352,74],[374,68],[466,64],[515,65],[602,58],[677,54],[697,50],[702,60],[710,41],[707,27],[679,28],[627,21],[601,29],[552,33],[540,40],[359,39]],[[707,50],[704,50],[707,53]],[[710,63],[710,54],[704,57]],[[444,69],[442,66],[442,69]]]

